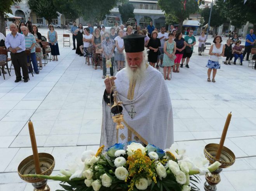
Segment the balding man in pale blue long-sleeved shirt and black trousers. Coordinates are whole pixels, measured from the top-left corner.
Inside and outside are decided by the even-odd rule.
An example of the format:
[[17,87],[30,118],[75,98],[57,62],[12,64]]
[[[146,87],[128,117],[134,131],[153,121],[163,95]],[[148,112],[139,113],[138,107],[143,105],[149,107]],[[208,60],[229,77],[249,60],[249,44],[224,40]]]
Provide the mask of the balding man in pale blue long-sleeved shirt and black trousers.
[[10,31],[12,32],[6,35],[5,46],[10,50],[10,58],[14,66],[16,75],[16,80],[14,82],[21,81],[21,69],[24,82],[28,82],[28,67],[24,36],[17,32],[16,24],[10,24]]

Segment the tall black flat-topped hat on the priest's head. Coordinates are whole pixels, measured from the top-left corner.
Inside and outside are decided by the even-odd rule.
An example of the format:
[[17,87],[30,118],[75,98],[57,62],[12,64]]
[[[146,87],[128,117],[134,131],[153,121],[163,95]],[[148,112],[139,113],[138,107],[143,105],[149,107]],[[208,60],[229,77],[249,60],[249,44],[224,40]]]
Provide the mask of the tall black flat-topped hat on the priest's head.
[[123,36],[124,39],[124,49],[127,53],[142,52],[145,48],[145,37],[146,35],[141,34],[130,34]]

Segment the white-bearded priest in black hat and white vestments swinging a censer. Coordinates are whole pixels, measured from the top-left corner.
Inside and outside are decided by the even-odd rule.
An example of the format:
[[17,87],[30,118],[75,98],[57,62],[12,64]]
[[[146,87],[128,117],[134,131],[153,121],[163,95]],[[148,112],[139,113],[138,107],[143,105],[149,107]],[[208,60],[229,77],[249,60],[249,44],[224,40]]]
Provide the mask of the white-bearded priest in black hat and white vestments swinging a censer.
[[[118,143],[130,141],[159,148],[171,147],[173,140],[172,104],[162,74],[147,63],[145,36],[131,34],[124,39],[126,67],[114,79],[122,101],[124,129],[118,130]],[[101,145],[105,148],[117,142],[117,130],[108,104],[113,104],[110,78],[104,80],[103,123]]]

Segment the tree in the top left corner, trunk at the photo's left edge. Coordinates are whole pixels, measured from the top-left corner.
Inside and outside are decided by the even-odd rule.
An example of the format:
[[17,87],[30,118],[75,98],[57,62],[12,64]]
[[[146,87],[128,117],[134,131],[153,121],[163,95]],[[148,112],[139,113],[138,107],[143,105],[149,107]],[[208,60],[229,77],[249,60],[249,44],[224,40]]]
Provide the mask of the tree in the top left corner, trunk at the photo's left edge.
[[0,6],[0,32],[3,33],[4,36],[6,36],[5,33],[5,22],[4,22],[4,15],[5,13],[12,13],[12,10],[10,7],[15,2],[21,2],[21,0],[1,0],[1,6]]

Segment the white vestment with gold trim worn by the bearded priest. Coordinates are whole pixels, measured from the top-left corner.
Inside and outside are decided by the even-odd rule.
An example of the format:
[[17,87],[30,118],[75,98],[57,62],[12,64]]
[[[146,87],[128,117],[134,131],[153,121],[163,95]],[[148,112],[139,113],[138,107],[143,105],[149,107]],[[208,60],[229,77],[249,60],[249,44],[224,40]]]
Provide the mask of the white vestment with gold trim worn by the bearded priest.
[[[124,126],[119,129],[118,143],[136,141],[151,143],[161,149],[171,147],[173,138],[172,104],[167,86],[162,74],[148,66],[141,82],[136,82],[135,88],[129,81],[127,70],[120,70],[115,80],[118,97],[123,102]],[[134,101],[136,114],[133,119],[129,115],[131,101]],[[101,130],[101,145],[108,148],[117,142],[116,124],[111,119],[110,106],[103,100],[103,123]]]

